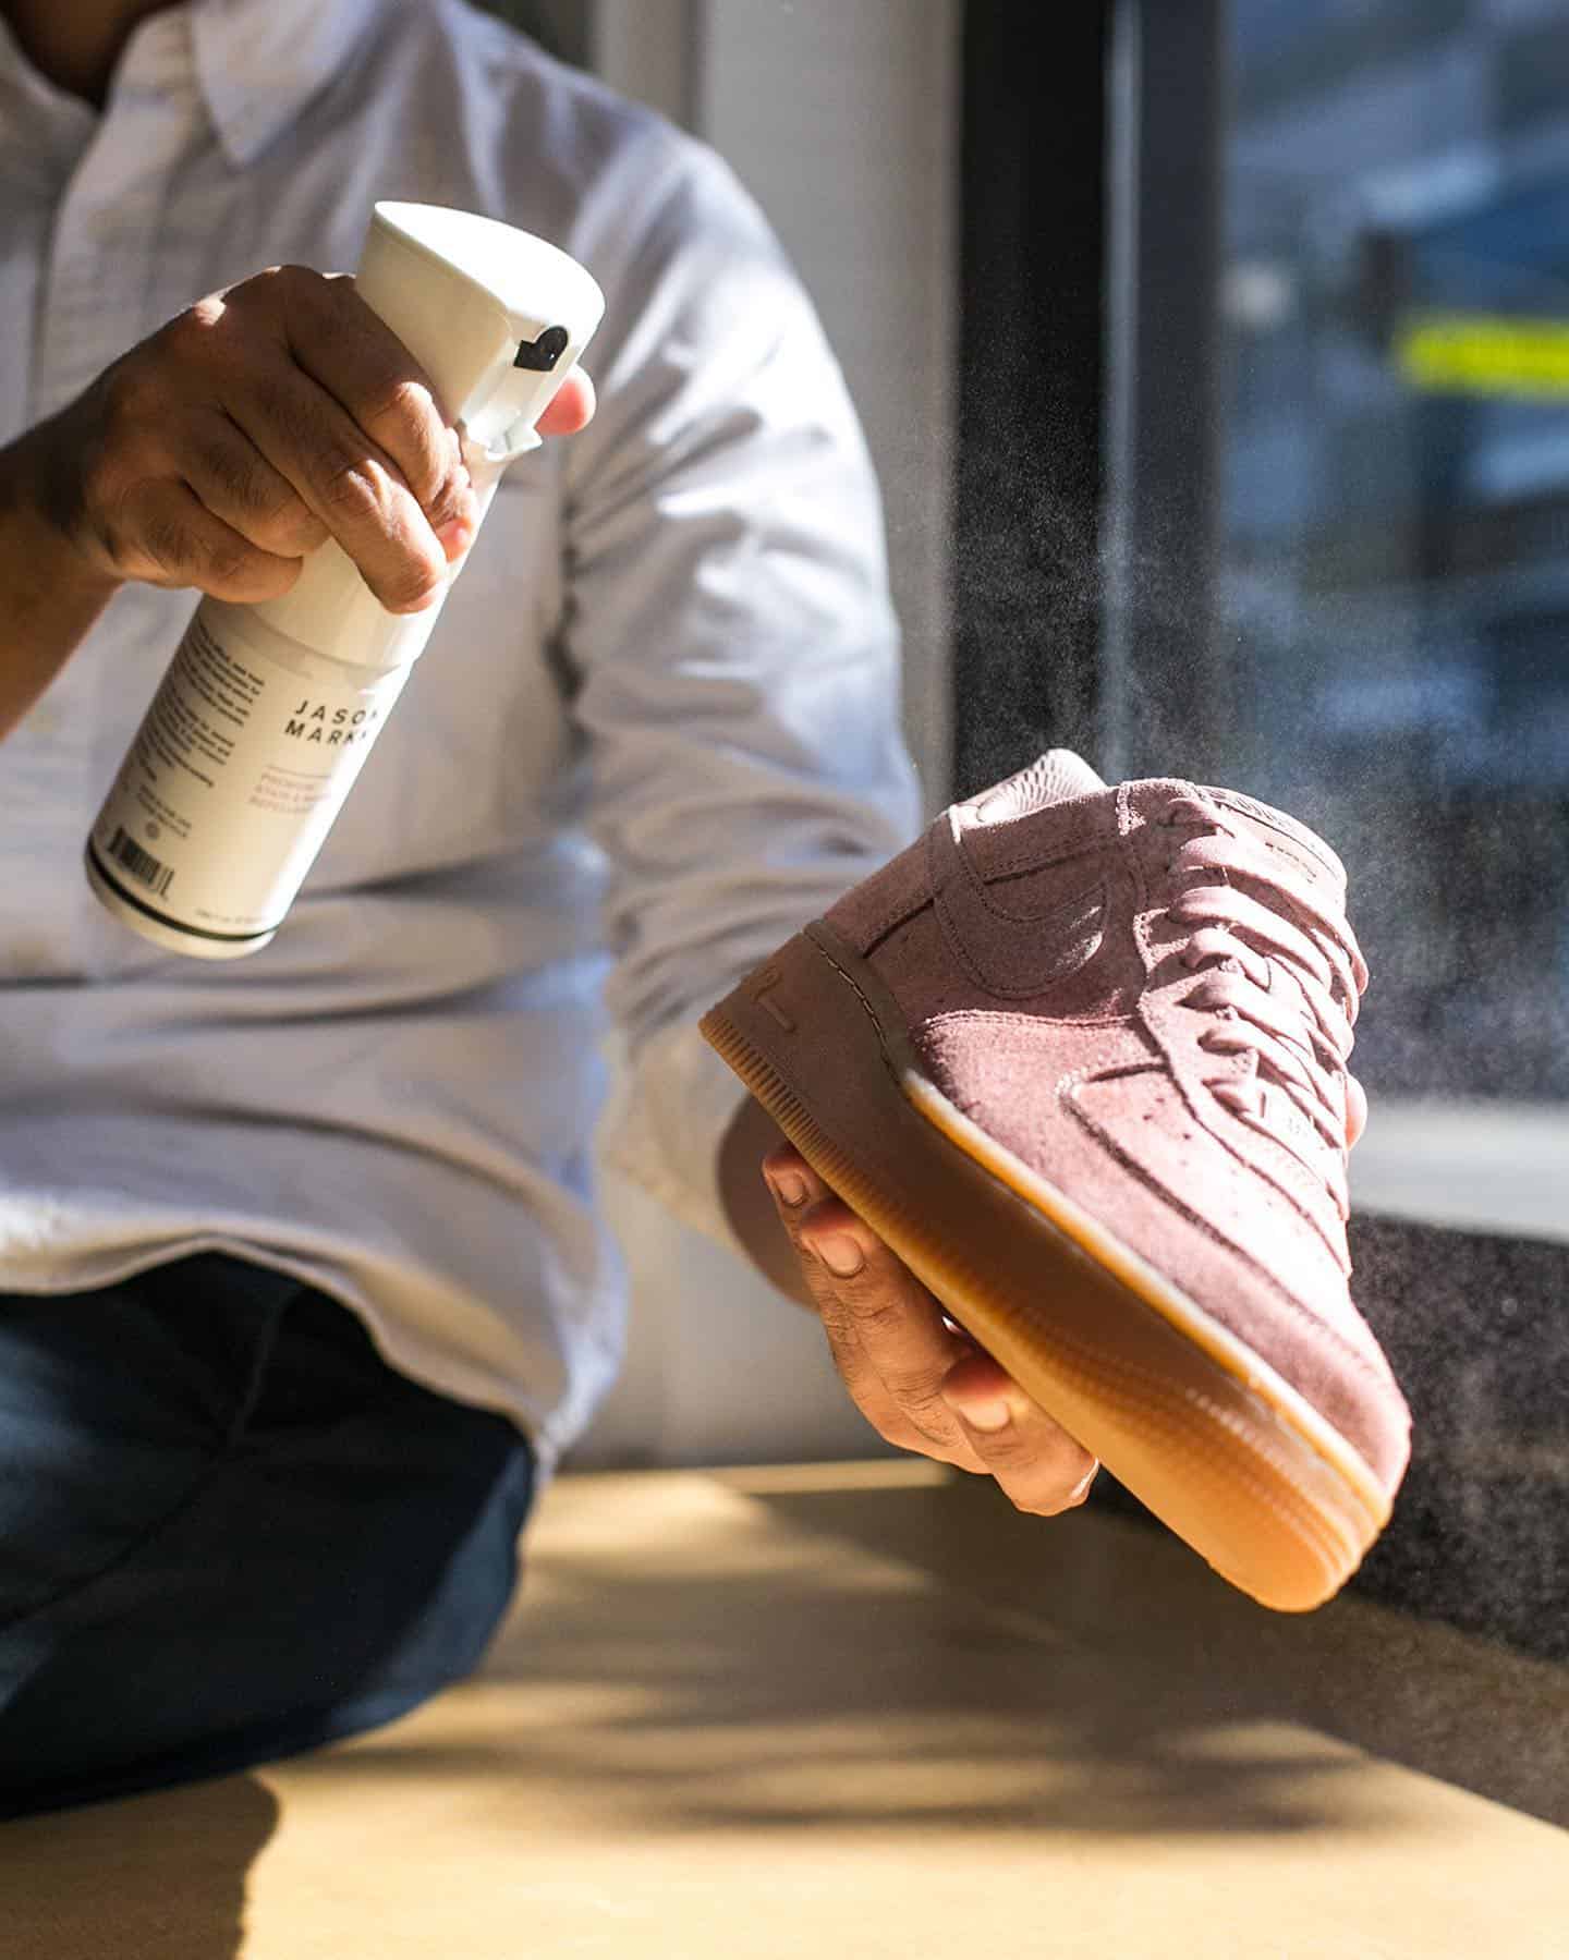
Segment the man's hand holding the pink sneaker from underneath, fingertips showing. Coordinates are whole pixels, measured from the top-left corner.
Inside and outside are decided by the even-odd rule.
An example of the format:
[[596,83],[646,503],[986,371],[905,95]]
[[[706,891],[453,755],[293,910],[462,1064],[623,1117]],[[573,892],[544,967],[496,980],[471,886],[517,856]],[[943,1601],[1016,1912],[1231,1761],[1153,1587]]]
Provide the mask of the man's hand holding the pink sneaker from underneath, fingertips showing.
[[1096,1462],[965,1335],[790,1145],[763,1174],[834,1362],[888,1443],[994,1476],[1020,1511],[1083,1503]]

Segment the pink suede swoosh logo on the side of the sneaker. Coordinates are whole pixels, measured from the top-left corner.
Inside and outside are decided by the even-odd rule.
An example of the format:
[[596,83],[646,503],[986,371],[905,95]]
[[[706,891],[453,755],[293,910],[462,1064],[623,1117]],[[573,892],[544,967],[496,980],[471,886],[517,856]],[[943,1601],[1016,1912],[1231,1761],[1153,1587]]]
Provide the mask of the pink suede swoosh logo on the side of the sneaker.
[[949,815],[926,833],[932,894],[955,960],[987,994],[1024,1000],[1071,980],[1106,937],[1106,884],[1022,917],[998,906],[971,864]]

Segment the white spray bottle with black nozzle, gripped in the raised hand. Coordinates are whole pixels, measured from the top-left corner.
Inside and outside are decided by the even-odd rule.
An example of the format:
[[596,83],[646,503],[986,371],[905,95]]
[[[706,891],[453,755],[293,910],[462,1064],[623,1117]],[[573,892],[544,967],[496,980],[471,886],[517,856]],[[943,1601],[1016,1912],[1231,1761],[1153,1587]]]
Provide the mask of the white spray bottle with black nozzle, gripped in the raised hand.
[[[379,204],[361,298],[435,384],[488,510],[604,312],[567,253],[430,204]],[[328,541],[278,600],[204,598],[86,843],[86,876],[143,939],[228,960],[269,943],[441,600],[388,613]]]

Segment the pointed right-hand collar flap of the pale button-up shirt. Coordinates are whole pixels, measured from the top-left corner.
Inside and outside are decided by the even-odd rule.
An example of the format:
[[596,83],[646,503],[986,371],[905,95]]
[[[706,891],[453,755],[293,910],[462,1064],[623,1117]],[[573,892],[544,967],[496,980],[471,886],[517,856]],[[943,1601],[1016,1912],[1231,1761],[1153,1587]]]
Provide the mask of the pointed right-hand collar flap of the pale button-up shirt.
[[196,78],[231,163],[251,163],[294,122],[371,31],[384,4],[194,0]]

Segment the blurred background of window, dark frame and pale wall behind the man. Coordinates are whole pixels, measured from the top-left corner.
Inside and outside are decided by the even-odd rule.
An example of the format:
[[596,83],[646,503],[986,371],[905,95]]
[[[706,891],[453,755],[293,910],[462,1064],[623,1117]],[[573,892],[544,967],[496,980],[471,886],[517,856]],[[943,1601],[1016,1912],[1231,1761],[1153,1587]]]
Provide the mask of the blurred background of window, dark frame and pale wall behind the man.
[[[1345,857],[1357,1298],[1418,1415],[1361,1584],[1567,1654],[1569,6],[496,12],[714,143],[802,270],[932,809],[1063,743]],[[582,1460],[879,1446],[802,1315],[614,1205]]]

